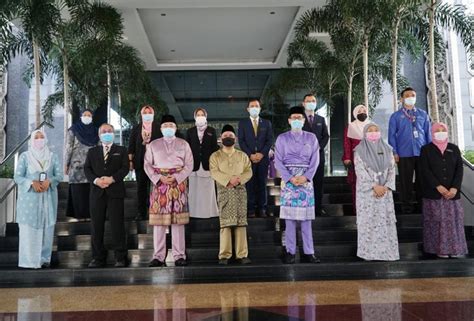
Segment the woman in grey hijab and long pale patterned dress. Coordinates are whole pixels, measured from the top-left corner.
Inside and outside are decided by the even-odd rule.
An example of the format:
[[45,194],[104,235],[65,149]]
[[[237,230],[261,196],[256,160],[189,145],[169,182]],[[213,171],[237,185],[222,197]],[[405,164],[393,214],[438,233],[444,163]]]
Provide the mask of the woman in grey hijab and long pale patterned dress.
[[354,150],[357,175],[357,256],[367,260],[400,259],[393,194],[395,160],[375,123],[365,126]]

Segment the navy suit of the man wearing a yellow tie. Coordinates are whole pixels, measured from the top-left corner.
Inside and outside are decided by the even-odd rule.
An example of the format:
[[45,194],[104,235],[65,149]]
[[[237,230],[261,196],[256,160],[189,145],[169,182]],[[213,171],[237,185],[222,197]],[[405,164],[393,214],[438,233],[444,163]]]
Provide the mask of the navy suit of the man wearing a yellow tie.
[[255,153],[262,153],[263,159],[252,163],[252,178],[247,182],[247,209],[249,213],[257,208],[265,210],[267,207],[267,176],[268,176],[268,152],[273,144],[272,123],[269,120],[258,119],[257,136],[253,130],[250,118],[239,122],[239,146],[249,157]]

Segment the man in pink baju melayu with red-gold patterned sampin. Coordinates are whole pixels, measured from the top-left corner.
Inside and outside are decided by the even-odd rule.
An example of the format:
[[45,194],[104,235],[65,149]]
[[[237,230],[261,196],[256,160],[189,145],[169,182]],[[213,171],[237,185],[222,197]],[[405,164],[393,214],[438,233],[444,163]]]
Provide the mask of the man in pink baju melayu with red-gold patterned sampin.
[[189,223],[187,179],[194,161],[191,147],[176,137],[176,130],[174,117],[164,115],[161,118],[163,138],[152,141],[145,152],[145,172],[153,183],[149,218],[153,225],[154,252],[150,267],[166,266],[168,226],[171,226],[174,264],[187,265],[184,234],[184,225]]

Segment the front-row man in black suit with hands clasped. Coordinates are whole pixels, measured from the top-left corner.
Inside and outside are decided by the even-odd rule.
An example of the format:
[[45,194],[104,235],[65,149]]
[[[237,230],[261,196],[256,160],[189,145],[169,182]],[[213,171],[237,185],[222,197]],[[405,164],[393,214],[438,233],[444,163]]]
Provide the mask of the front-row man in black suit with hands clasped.
[[91,183],[90,212],[92,228],[92,261],[90,268],[104,267],[107,251],[104,247],[105,219],[112,231],[112,248],[115,250],[115,267],[128,265],[124,226],[125,185],[123,179],[129,171],[127,149],[115,145],[114,128],[103,124],[99,128],[101,144],[89,149],[84,172]]

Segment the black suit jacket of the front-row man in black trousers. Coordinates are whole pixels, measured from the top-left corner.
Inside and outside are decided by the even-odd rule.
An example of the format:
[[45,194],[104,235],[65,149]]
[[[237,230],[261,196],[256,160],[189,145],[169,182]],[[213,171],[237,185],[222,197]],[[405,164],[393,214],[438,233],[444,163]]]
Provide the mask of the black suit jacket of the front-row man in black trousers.
[[[123,146],[112,144],[107,162],[104,162],[104,151],[102,145],[89,149],[84,173],[91,183],[91,196],[99,198],[106,193],[110,198],[124,198],[125,185],[123,179],[129,171],[127,149]],[[100,188],[94,184],[96,178],[112,176],[115,183],[107,188]]]

